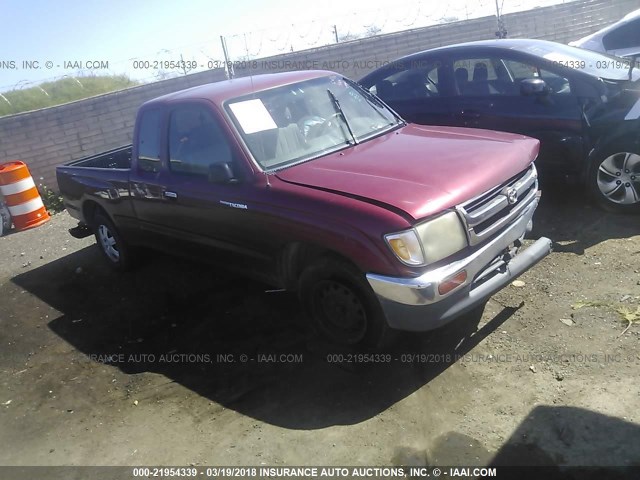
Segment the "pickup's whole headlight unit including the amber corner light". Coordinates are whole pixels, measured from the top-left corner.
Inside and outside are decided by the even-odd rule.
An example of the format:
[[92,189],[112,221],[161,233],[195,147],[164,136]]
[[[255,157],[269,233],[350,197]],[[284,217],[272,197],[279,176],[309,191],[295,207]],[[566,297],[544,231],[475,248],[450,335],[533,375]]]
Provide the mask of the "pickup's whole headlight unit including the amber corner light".
[[398,259],[411,266],[437,262],[467,246],[467,235],[456,212],[416,225],[411,230],[385,235]]

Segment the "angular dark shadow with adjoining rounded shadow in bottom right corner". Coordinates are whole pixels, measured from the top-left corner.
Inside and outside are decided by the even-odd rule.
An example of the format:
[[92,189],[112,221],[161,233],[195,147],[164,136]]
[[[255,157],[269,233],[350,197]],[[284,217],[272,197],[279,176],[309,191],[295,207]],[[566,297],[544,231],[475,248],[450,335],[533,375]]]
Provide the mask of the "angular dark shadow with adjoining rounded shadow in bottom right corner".
[[449,431],[436,437],[427,450],[398,447],[391,463],[497,467],[497,476],[509,479],[631,480],[640,470],[639,442],[640,427],[631,422],[584,408],[539,405],[497,452],[474,437]]

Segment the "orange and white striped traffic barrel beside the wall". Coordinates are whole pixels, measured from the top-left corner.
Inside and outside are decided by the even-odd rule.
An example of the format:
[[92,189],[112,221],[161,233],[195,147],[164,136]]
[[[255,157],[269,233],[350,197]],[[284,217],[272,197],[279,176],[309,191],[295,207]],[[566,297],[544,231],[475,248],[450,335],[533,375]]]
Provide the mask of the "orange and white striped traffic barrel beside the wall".
[[37,227],[51,218],[23,162],[0,165],[0,193],[18,231]]

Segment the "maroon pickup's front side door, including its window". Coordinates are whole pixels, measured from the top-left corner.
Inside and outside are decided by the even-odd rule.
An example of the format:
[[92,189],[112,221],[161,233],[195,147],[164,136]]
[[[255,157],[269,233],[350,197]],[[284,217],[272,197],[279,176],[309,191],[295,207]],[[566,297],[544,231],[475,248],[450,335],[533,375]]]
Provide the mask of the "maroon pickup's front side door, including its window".
[[145,228],[172,243],[267,258],[265,242],[251,233],[255,186],[242,181],[238,155],[211,108],[196,102],[170,108],[166,132],[163,171],[139,209]]

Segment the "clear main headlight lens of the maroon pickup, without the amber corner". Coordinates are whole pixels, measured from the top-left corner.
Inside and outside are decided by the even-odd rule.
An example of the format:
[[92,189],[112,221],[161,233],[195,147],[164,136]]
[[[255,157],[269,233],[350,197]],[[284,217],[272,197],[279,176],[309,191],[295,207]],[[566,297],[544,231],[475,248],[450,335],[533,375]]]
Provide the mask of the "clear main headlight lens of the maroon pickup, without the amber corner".
[[416,225],[428,263],[437,262],[467,246],[467,235],[456,212]]

